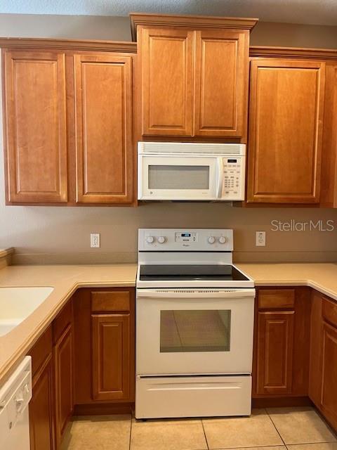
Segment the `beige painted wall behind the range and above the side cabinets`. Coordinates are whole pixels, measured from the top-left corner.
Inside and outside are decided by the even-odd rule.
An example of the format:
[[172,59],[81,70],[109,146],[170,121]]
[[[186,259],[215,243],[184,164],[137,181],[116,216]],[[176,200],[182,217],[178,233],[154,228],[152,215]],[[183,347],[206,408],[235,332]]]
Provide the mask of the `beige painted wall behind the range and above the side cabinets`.
[[[333,27],[301,27],[289,38],[284,24],[258,25],[254,44],[333,47]],[[289,25],[293,29],[293,25]],[[265,27],[265,31],[263,31]],[[269,27],[269,31],[267,29]],[[325,29],[329,30],[325,30]],[[324,29],[324,30],[321,30]],[[4,36],[130,39],[128,18],[0,15]],[[277,34],[273,30],[279,30]],[[310,30],[310,32],[309,32]],[[315,33],[313,30],[317,30]],[[333,34],[333,33],[332,33]],[[279,38],[277,38],[277,36]],[[329,39],[331,38],[331,39]],[[279,39],[279,41],[277,41]],[[290,39],[290,40],[289,40]],[[324,43],[320,45],[319,43]],[[337,45],[335,45],[337,48]],[[0,122],[2,116],[0,111]],[[0,131],[0,248],[14,246],[16,263],[107,263],[136,261],[140,227],[233,228],[236,261],[336,261],[337,210],[237,208],[217,203],[147,203],[122,207],[6,207]],[[272,231],[272,221],[298,223],[305,231]],[[310,231],[310,221],[314,229]],[[333,221],[335,231],[318,231]],[[301,225],[306,223],[307,225]],[[331,222],[330,222],[331,224]],[[284,225],[287,228],[287,225]],[[267,245],[256,248],[255,231],[267,231]],[[89,233],[101,233],[101,248],[89,248]]]

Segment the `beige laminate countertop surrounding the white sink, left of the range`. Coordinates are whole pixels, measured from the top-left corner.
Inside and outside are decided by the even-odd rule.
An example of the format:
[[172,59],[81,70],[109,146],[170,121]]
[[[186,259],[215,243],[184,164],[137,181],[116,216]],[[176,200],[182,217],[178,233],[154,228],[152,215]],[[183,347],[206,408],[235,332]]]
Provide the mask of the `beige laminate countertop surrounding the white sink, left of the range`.
[[27,354],[77,288],[132,287],[136,285],[136,272],[136,264],[6,266],[1,269],[0,288],[51,286],[54,290],[25,321],[0,337],[0,383]]

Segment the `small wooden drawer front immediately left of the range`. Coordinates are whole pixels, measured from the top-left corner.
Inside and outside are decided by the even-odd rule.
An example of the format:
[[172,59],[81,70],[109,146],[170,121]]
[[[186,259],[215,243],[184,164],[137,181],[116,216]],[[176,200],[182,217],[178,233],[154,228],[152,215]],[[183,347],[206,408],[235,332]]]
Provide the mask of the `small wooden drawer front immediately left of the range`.
[[130,293],[128,290],[92,292],[91,311],[130,311]]

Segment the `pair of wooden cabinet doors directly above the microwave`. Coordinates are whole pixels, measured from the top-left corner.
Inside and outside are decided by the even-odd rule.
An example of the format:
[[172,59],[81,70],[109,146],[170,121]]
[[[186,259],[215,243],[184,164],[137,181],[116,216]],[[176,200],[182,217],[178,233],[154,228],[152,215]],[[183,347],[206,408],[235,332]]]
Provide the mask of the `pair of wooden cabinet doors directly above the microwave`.
[[144,136],[245,135],[248,30],[140,27],[138,42]]

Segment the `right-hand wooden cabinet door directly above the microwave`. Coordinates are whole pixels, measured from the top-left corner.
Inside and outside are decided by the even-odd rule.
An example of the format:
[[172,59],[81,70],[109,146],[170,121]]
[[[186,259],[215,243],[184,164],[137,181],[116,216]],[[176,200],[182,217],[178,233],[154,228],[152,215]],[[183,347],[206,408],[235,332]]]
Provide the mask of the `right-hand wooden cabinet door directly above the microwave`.
[[246,126],[249,32],[197,31],[195,41],[196,136],[241,137]]

